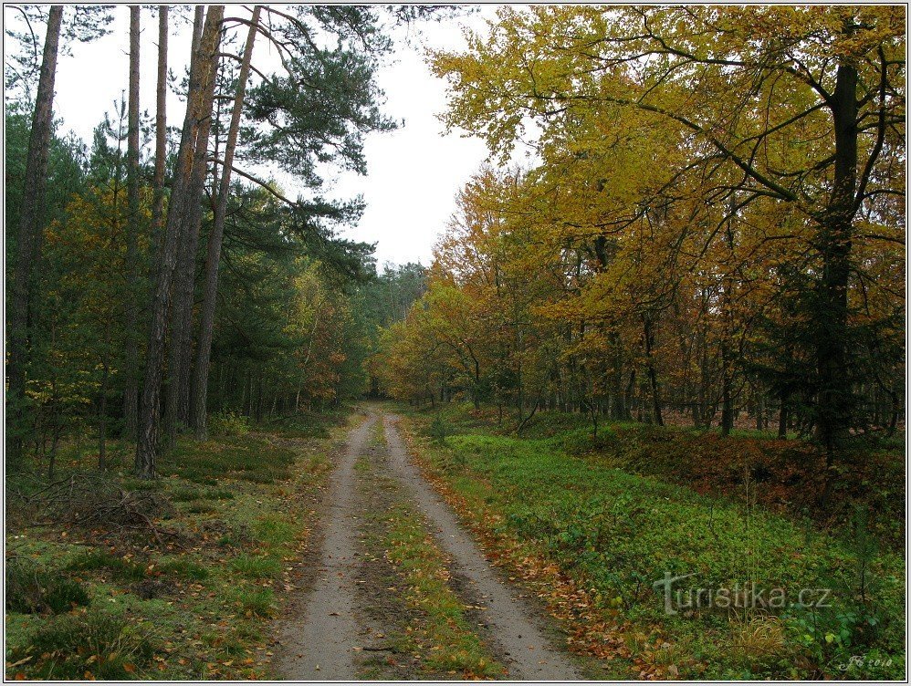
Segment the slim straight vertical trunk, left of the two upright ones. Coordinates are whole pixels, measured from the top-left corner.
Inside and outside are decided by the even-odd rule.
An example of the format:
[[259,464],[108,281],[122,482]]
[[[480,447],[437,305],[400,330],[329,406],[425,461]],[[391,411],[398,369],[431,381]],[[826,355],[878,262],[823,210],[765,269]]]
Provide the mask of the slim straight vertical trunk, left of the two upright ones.
[[136,284],[139,271],[139,34],[140,5],[130,7],[130,95],[127,105],[127,207],[130,221],[127,226],[127,290],[126,330],[123,351],[124,379],[123,419],[128,441],[136,440],[139,415],[139,341],[136,339],[139,313]]

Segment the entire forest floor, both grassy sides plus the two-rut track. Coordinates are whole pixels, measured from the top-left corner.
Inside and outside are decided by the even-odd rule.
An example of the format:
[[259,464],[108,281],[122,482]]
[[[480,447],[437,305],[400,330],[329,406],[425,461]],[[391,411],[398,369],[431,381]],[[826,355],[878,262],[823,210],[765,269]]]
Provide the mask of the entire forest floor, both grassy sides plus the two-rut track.
[[[518,437],[496,410],[369,404],[182,441],[152,482],[113,447],[104,473],[67,446],[54,481],[7,477],[8,679],[905,671],[892,449],[815,512],[801,442],[619,424],[595,440],[567,415]],[[654,588],[667,571],[833,602],[677,598],[667,615]]]

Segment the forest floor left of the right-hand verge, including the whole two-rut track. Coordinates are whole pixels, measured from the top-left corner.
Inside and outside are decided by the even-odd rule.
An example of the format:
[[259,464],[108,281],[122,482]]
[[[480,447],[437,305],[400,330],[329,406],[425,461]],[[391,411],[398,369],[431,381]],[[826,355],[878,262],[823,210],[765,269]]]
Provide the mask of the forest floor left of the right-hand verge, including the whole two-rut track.
[[151,482],[116,442],[105,472],[67,446],[53,481],[9,478],[6,677],[603,678],[397,421],[369,406],[182,440]]

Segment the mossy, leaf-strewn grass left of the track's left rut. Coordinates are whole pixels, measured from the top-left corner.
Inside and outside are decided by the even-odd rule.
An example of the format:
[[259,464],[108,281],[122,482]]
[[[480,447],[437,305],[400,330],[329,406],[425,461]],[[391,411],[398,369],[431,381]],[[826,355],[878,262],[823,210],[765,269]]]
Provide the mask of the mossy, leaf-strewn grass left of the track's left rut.
[[[332,439],[344,430],[339,419],[319,421],[310,433]],[[7,592],[7,678],[272,676],[268,625],[288,592],[288,561],[302,555],[312,524],[300,498],[330,468],[331,443],[301,438],[305,424],[292,436],[254,427],[203,443],[182,440],[162,456],[153,482],[109,473],[120,489],[153,491],[178,505],[155,521],[166,532],[161,542],[116,526],[11,527],[7,559],[39,577],[30,590]],[[93,463],[88,454],[81,462],[61,458],[58,478]],[[39,487],[29,482],[31,493]],[[29,574],[16,577],[20,585]],[[7,575],[7,591],[13,578]]]

